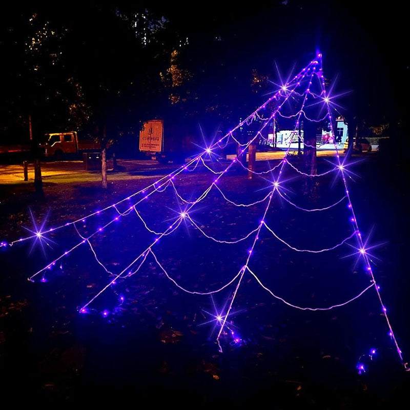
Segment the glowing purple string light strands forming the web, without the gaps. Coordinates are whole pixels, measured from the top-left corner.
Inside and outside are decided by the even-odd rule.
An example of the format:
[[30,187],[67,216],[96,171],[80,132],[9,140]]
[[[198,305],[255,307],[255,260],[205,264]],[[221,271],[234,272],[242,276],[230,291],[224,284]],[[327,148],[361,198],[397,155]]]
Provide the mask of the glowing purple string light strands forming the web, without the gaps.
[[[272,113],[268,117],[264,117],[263,112],[267,111],[267,107],[270,107],[269,103],[276,104],[276,108],[272,110]],[[297,166],[293,165],[292,161],[290,160],[290,150],[291,150],[291,143],[292,140],[289,142],[289,146],[285,151],[285,155],[283,160],[281,160],[278,165],[275,167],[270,167],[268,171],[256,172],[255,170],[251,170],[248,167],[244,166],[241,161],[236,160],[234,158],[232,161],[228,163],[226,168],[222,167],[222,170],[216,170],[215,165],[211,163],[209,165],[205,162],[204,158],[209,158],[211,155],[214,155],[213,149],[216,149],[221,146],[227,146],[228,142],[234,142],[238,146],[241,147],[241,154],[246,155],[247,150],[249,149],[251,144],[255,144],[258,139],[265,139],[264,134],[266,133],[267,127],[269,126],[272,120],[277,118],[284,118],[284,119],[291,119],[294,120],[295,129],[294,131],[297,132],[298,127],[300,125],[302,115],[306,120],[310,120],[316,123],[319,123],[323,120],[329,121],[331,124],[331,132],[333,135],[336,135],[334,132],[333,127],[333,120],[331,115],[331,110],[334,107],[334,97],[330,97],[326,94],[326,90],[324,87],[324,79],[323,79],[323,69],[322,69],[322,55],[317,54],[316,59],[312,60],[311,63],[303,68],[297,75],[293,77],[292,80],[286,81],[280,88],[277,90],[267,101],[264,102],[258,109],[256,109],[253,113],[251,113],[247,118],[240,121],[239,124],[230,130],[226,135],[219,138],[214,144],[204,148],[202,152],[196,155],[194,158],[190,159],[187,163],[183,166],[174,170],[173,172],[169,173],[166,176],[163,176],[156,180],[155,182],[151,183],[151,185],[144,187],[138,192],[135,192],[132,195],[128,195],[126,198],[121,199],[120,201],[111,204],[107,208],[99,209],[94,213],[91,213],[87,216],[82,216],[81,218],[66,222],[59,227],[54,227],[49,230],[44,230],[44,224],[41,229],[37,230],[37,228],[32,231],[33,235],[20,238],[18,240],[12,241],[7,243],[5,241],[0,242],[0,247],[2,248],[10,248],[16,243],[22,243],[26,240],[38,240],[40,242],[44,242],[46,240],[46,234],[53,232],[56,233],[57,231],[63,229],[71,229],[74,228],[74,231],[79,236],[80,241],[74,244],[69,250],[65,251],[63,254],[55,258],[53,261],[48,263],[44,268],[40,269],[33,275],[31,275],[28,279],[30,281],[34,281],[37,275],[40,275],[40,281],[46,282],[47,279],[45,277],[45,272],[48,271],[48,274],[52,274],[50,272],[51,268],[54,267],[57,261],[62,259],[63,257],[68,257],[75,249],[80,247],[81,245],[88,246],[94,258],[97,262],[97,265],[102,267],[111,277],[111,280],[103,286],[100,291],[98,291],[91,299],[86,302],[83,306],[79,308],[79,313],[85,314],[90,313],[89,305],[101,294],[103,294],[107,289],[111,289],[112,286],[117,285],[118,279],[126,279],[130,276],[133,276],[137,272],[139,272],[142,267],[145,266],[147,257],[152,257],[152,260],[155,262],[155,265],[160,269],[161,272],[165,275],[167,279],[169,279],[179,290],[196,295],[211,295],[211,297],[218,292],[221,292],[224,289],[228,289],[229,286],[235,285],[235,289],[229,298],[229,303],[227,303],[222,312],[216,312],[215,314],[210,314],[214,316],[214,319],[219,327],[219,332],[216,337],[219,350],[222,352],[222,346],[220,343],[220,337],[223,334],[229,334],[231,336],[231,342],[235,345],[240,345],[243,340],[235,334],[235,332],[231,329],[231,324],[227,323],[228,317],[232,316],[233,307],[235,304],[235,298],[242,285],[243,278],[245,275],[248,278],[254,278],[255,281],[261,286],[262,289],[267,291],[277,300],[280,300],[284,304],[291,306],[293,308],[299,310],[311,310],[311,311],[321,311],[321,310],[331,310],[335,308],[339,308],[340,306],[344,306],[347,303],[350,303],[359,297],[361,297],[365,292],[374,289],[377,293],[378,299],[380,301],[382,314],[386,320],[388,326],[388,335],[391,340],[396,345],[396,350],[400,357],[401,362],[403,363],[405,370],[408,370],[407,363],[404,363],[402,358],[401,350],[397,344],[397,340],[391,324],[389,323],[389,319],[387,317],[387,309],[382,302],[381,295],[380,295],[380,286],[376,285],[376,280],[372,270],[371,258],[372,256],[368,253],[368,251],[372,248],[369,247],[366,243],[363,242],[362,235],[360,233],[358,219],[355,215],[352,200],[350,197],[350,193],[347,189],[347,181],[346,178],[350,176],[350,171],[347,170],[348,166],[346,163],[342,162],[340,156],[338,155],[337,151],[337,144],[335,144],[336,150],[336,163],[331,165],[331,168],[324,171],[323,173],[319,174],[310,174],[306,173],[303,170],[298,169]],[[263,112],[262,112],[263,111]],[[322,113],[324,112],[324,114]],[[247,142],[241,142],[240,138],[236,135],[239,134],[240,130],[246,127],[250,127],[251,125],[260,124],[260,127],[257,131],[254,132],[253,136],[251,136]],[[310,147],[305,145],[306,147]],[[209,159],[208,159],[209,161]],[[219,163],[218,161],[216,161]],[[228,175],[229,171],[232,167],[239,164],[241,167],[248,170],[248,172],[252,175],[256,176],[266,176],[266,180],[268,183],[268,187],[270,187],[270,191],[267,195],[260,196],[253,201],[249,201],[248,203],[239,202],[236,200],[229,199],[229,195],[224,192],[223,189],[223,181],[224,177]],[[219,163],[220,165],[220,163]],[[183,174],[188,172],[194,172],[197,168],[201,166],[202,169],[206,170],[212,175],[212,179],[210,180],[209,186],[204,189],[199,195],[197,195],[196,199],[190,198],[189,200],[184,198],[183,195],[179,192],[178,188],[178,179],[183,176]],[[285,173],[294,173],[296,176],[304,176],[310,177],[312,179],[317,179],[320,177],[324,177],[326,175],[335,175],[338,180],[341,182],[340,185],[342,186],[342,193],[335,202],[331,204],[327,204],[324,207],[316,208],[316,209],[308,209],[301,204],[297,204],[296,201],[290,199],[290,195],[286,193],[286,186],[288,185],[288,180],[284,178]],[[151,219],[150,223],[147,223],[147,218],[144,217],[144,213],[140,210],[140,207],[144,203],[149,203],[149,201],[154,201],[154,196],[163,194],[168,190],[172,190],[175,194],[175,198],[178,201],[178,206],[180,209],[178,211],[174,211],[176,217],[172,219],[170,223],[167,221],[167,226],[162,230],[157,230],[153,226],[151,226]],[[290,192],[290,191],[289,191]],[[257,223],[254,224],[247,232],[243,232],[240,238],[235,238],[231,240],[224,239],[222,237],[216,237],[207,232],[206,227],[202,227],[199,223],[194,221],[191,217],[192,213],[198,209],[200,204],[203,204],[206,198],[211,197],[212,195],[218,195],[222,197],[227,204],[230,206],[235,207],[236,209],[247,208],[255,210],[253,211],[257,214]],[[313,212],[324,212],[330,209],[334,209],[339,204],[344,202],[345,208],[350,213],[348,216],[348,220],[346,219],[345,222],[346,226],[348,226],[347,233],[345,233],[344,237],[340,240],[335,240],[332,245],[327,245],[326,247],[316,248],[312,244],[312,248],[301,248],[294,244],[291,244],[289,241],[285,240],[281,237],[278,233],[275,232],[275,229],[271,227],[271,224],[268,222],[269,218],[267,218],[269,211],[272,211],[273,203],[275,200],[284,201],[285,203],[290,204],[294,209],[299,211],[313,213]],[[124,204],[126,209],[121,212],[121,208],[123,207],[123,202],[127,201]],[[347,202],[347,206],[346,206]],[[182,208],[181,206],[185,207]],[[109,212],[114,211],[115,216],[110,217],[108,221],[105,223],[101,222],[97,229],[92,231],[88,235],[81,234],[79,228],[79,222],[84,226],[89,222],[94,221],[94,217],[98,216],[101,217]],[[135,212],[133,212],[135,211]],[[142,222],[142,227],[144,227],[147,234],[154,235],[154,237],[148,241],[148,244],[142,246],[143,249],[139,250],[136,255],[132,258],[132,260],[125,262],[125,268],[121,268],[119,273],[114,273],[109,271],[104,263],[101,261],[102,259],[98,256],[98,251],[96,249],[96,245],[92,244],[91,239],[94,238],[96,235],[107,232],[107,228],[111,226],[113,222],[120,223],[120,219],[131,218],[132,215],[136,215],[138,220]],[[185,223],[183,226],[186,229],[193,230],[203,238],[207,238],[216,242],[221,245],[233,245],[239,242],[247,242],[247,252],[243,255],[244,263],[241,265],[239,271],[232,272],[226,278],[223,278],[223,283],[218,284],[215,289],[212,290],[203,290],[202,292],[199,290],[192,290],[188,289],[186,285],[182,285],[178,281],[178,277],[170,274],[168,269],[166,268],[164,263],[161,263],[160,258],[157,254],[158,243],[162,243],[163,240],[169,237],[171,234],[176,234],[179,232],[179,227],[181,222],[184,221]],[[93,222],[95,223],[95,222]],[[353,226],[353,229],[352,229]],[[175,235],[173,235],[175,237]],[[366,277],[370,276],[371,281],[370,284],[365,284],[361,289],[353,291],[353,294],[350,297],[347,297],[345,300],[338,301],[337,303],[329,303],[327,306],[303,306],[301,304],[291,303],[286,298],[281,297],[275,294],[271,289],[269,289],[268,285],[263,283],[263,280],[259,278],[256,272],[250,268],[250,264],[253,261],[254,255],[257,253],[256,244],[261,241],[261,238],[271,238],[276,239],[278,243],[283,243],[288,247],[290,250],[296,252],[305,252],[310,254],[320,254],[325,252],[334,251],[337,248],[341,248],[345,244],[352,246],[357,253],[360,255],[363,263],[364,263],[364,271]],[[350,240],[355,239],[357,244],[351,245],[349,243]],[[250,246],[248,246],[248,242],[250,242]],[[48,242],[46,242],[48,243]],[[326,242],[327,243],[327,242]],[[356,252],[355,252],[356,253]],[[351,255],[350,255],[351,256]],[[60,264],[61,269],[61,264]],[[118,303],[124,303],[125,298],[124,296],[118,297]],[[110,310],[103,310],[100,312],[103,317],[109,316],[111,313]],[[209,314],[209,312],[207,312]],[[226,332],[226,330],[228,332]],[[376,349],[372,348],[370,350],[370,357],[373,357],[376,354]],[[357,364],[357,370],[359,373],[364,373],[366,371],[366,366],[363,363],[363,360],[359,360]]]

